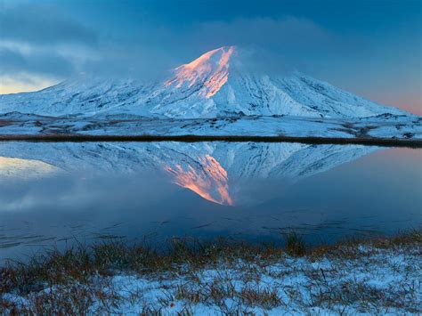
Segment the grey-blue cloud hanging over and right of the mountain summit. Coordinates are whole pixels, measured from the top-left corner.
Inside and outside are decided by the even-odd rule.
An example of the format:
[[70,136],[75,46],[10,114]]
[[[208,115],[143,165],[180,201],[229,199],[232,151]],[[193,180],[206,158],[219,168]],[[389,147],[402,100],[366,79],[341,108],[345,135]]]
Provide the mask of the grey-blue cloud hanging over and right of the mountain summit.
[[209,21],[199,25],[191,42],[205,51],[238,45],[248,66],[266,73],[311,69],[318,55],[337,50],[334,34],[312,20],[296,17]]

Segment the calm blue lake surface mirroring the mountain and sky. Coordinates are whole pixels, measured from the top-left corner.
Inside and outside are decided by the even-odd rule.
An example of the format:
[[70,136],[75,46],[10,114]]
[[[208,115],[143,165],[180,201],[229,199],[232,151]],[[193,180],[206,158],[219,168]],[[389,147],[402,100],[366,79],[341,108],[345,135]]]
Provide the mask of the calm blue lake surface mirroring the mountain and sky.
[[309,242],[422,223],[422,150],[0,142],[0,261],[87,240]]

